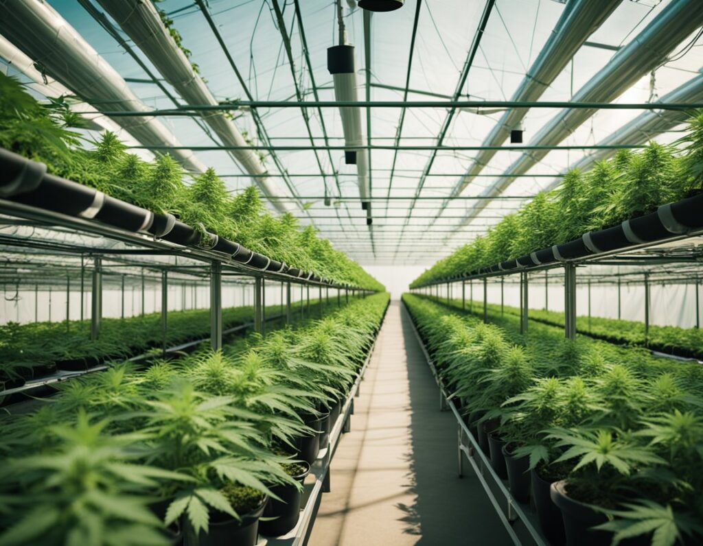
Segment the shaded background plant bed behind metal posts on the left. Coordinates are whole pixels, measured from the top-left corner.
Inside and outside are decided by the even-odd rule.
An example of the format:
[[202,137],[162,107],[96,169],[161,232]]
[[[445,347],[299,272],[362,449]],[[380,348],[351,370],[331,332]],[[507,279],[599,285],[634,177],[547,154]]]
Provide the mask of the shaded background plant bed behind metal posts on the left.
[[[311,308],[321,304],[311,300]],[[306,301],[291,304],[292,316]],[[312,311],[314,316],[318,311]],[[266,316],[280,316],[283,307],[266,306]],[[254,308],[224,308],[224,329],[252,323]],[[169,311],[165,342],[167,346],[209,336],[209,309]],[[160,313],[129,318],[104,318],[99,339],[90,339],[90,321],[6,323],[0,325],[0,391],[22,386],[56,370],[86,370],[105,360],[122,360],[162,348]]]

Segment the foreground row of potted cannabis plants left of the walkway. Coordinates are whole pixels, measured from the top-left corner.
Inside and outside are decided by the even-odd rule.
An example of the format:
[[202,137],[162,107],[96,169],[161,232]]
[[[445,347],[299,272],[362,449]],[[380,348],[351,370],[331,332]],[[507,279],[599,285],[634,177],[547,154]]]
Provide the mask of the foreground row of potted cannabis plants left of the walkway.
[[143,372],[115,365],[2,420],[0,545],[246,546],[290,531],[387,304],[375,294]]

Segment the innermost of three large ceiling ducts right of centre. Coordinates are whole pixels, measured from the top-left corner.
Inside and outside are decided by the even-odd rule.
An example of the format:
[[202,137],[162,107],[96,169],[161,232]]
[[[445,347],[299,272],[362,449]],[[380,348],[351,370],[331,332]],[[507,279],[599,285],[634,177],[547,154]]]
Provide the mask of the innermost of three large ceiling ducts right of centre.
[[[539,55],[525,74],[525,77],[512,94],[511,101],[534,101],[542,96],[564,67],[574,57],[576,51],[588,37],[593,34],[622,0],[572,0],[567,2],[552,34],[541,49]],[[462,109],[470,110],[473,109]],[[478,109],[477,109],[478,110]],[[474,112],[479,113],[479,112]],[[492,113],[490,110],[480,112]],[[522,124],[527,115],[526,108],[515,108],[506,111],[498,123],[494,125],[484,139],[484,146],[500,146],[510,136],[510,131]],[[450,196],[456,197],[468,186],[473,177],[479,174],[496,155],[496,150],[484,150],[477,155],[471,167],[467,170],[451,191]],[[446,206],[446,202],[445,202]],[[444,209],[444,207],[442,207]]]

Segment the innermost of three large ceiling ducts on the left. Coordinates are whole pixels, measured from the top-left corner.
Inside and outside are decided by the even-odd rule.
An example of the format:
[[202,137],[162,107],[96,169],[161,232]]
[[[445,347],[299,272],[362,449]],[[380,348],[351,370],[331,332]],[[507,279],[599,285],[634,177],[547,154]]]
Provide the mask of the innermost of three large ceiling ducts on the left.
[[[195,73],[191,62],[164,26],[156,8],[150,1],[98,0],[124,32],[143,51],[151,63],[172,84],[189,105],[217,106],[219,103],[207,89],[202,78]],[[202,119],[226,146],[248,146],[236,125],[222,112],[205,112]],[[277,197],[289,198],[266,176],[266,169],[254,150],[230,150],[229,154],[252,177],[271,204],[279,212],[290,212],[292,204]]]

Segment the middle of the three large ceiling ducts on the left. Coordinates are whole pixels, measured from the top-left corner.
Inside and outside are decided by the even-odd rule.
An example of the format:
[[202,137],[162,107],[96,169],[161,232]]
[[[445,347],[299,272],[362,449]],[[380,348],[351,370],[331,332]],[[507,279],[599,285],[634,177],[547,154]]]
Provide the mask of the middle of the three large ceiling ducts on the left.
[[[97,110],[148,112],[120,74],[48,4],[0,0],[0,33]],[[181,145],[155,117],[124,116],[115,122],[144,145]],[[189,171],[205,171],[191,150],[169,150],[169,154]]]

